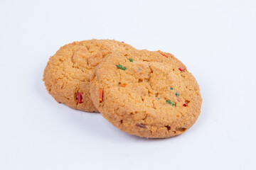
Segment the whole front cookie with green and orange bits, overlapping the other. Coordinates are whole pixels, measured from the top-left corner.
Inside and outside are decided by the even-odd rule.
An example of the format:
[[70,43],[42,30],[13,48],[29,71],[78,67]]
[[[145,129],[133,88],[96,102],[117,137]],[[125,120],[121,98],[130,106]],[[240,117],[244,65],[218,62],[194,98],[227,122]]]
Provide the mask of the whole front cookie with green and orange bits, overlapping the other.
[[108,55],[94,69],[90,94],[112,125],[140,137],[179,135],[201,112],[196,79],[182,62],[161,51]]

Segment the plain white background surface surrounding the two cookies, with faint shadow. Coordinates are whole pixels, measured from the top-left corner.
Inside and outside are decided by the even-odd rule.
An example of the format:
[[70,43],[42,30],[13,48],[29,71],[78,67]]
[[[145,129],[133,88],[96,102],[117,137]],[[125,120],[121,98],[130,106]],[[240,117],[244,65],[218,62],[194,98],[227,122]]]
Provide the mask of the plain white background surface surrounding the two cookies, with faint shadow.
[[[0,169],[256,169],[256,1],[0,1]],[[115,39],[173,53],[201,86],[183,135],[146,140],[58,104],[60,46]]]

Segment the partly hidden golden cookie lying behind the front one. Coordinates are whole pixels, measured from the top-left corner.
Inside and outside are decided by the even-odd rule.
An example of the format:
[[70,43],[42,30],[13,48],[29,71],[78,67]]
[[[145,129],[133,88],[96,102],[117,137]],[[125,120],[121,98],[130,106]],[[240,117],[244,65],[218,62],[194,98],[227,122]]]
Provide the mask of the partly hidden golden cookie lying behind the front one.
[[43,72],[49,94],[58,103],[81,111],[97,112],[90,98],[92,69],[106,55],[134,47],[116,40],[85,40],[60,47]]

